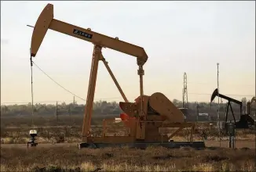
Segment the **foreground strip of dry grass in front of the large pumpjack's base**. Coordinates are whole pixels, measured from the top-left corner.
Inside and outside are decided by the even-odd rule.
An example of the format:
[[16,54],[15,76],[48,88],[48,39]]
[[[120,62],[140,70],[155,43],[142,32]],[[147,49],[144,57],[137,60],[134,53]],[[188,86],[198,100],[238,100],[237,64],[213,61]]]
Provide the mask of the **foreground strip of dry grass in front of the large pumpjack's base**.
[[255,149],[77,149],[2,145],[1,171],[254,171]]

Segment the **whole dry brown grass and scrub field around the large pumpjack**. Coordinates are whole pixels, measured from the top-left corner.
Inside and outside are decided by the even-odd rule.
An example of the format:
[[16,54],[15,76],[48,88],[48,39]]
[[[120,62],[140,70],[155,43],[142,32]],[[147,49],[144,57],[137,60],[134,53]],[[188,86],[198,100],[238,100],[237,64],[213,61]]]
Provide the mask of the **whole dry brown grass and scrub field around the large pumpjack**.
[[[28,119],[27,119],[28,120]],[[82,116],[68,116],[57,123],[54,119],[37,119],[38,146],[28,148],[26,119],[1,121],[1,171],[255,171],[255,132],[236,131],[236,149],[228,149],[227,136],[221,133],[221,147],[196,150],[191,148],[145,150],[123,148],[78,149]],[[41,121],[41,123],[40,123]],[[48,122],[47,122],[48,121]],[[67,121],[67,122],[65,122]],[[75,122],[74,122],[75,121]],[[46,124],[47,122],[47,124]],[[12,123],[12,125],[10,125]],[[21,125],[21,124],[22,125]],[[28,122],[27,122],[28,124]],[[40,125],[39,125],[40,124]],[[15,127],[16,126],[16,127]],[[54,126],[54,127],[53,127]],[[203,137],[204,135],[207,137]],[[123,134],[121,124],[114,124],[109,133]],[[93,121],[93,133],[101,134],[101,119]],[[186,141],[188,131],[174,138]],[[218,132],[207,124],[199,124],[196,140],[205,140],[208,147],[218,147]],[[20,143],[20,144],[19,144]]]

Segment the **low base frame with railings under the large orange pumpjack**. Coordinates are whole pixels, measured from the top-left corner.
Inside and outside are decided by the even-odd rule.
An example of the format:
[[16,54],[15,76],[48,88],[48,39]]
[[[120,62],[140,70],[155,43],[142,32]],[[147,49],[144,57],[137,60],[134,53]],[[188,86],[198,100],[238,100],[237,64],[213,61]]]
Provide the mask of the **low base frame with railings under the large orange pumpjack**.
[[[104,121],[106,122],[106,121]],[[163,121],[161,121],[163,122]],[[135,134],[129,136],[106,136],[105,135],[105,123],[103,124],[103,136],[101,137],[84,137],[82,138],[82,143],[79,143],[79,149],[82,148],[105,148],[105,147],[122,147],[128,146],[129,148],[139,148],[145,149],[148,146],[162,146],[166,148],[181,148],[181,147],[192,147],[195,149],[206,148],[206,145],[202,141],[193,141],[192,134],[196,124],[194,123],[185,123],[185,124],[161,124],[162,127],[177,127],[178,129],[174,133],[170,134],[168,138],[162,138],[155,136],[150,136],[145,138],[144,141],[136,140],[134,137]],[[171,138],[177,134],[178,131],[181,131],[184,127],[191,127],[190,138],[188,142],[174,142]],[[163,140],[162,140],[163,139]],[[166,140],[167,139],[167,140]],[[154,140],[154,141],[153,141]]]

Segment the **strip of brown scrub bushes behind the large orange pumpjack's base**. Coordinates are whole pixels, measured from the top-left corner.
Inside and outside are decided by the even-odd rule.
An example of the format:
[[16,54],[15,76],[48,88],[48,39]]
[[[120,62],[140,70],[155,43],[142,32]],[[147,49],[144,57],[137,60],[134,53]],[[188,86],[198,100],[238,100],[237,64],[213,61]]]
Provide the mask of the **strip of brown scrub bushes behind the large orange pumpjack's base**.
[[[26,138],[29,138],[28,131],[31,128],[20,127],[20,128],[4,128],[1,131],[2,144],[7,143],[26,143]],[[38,138],[42,138],[46,142],[50,143],[60,143],[60,142],[79,142],[82,138],[82,127],[81,126],[63,126],[63,127],[34,127],[33,129],[38,131]],[[129,129],[123,127],[121,124],[109,125],[106,129],[108,131],[105,134],[109,136],[125,136],[129,134]],[[177,130],[177,129],[176,129]],[[92,135],[94,137],[102,136],[103,127],[101,125],[92,126]],[[167,128],[165,130],[160,130],[162,134],[174,133],[175,129]],[[236,131],[236,138],[250,138],[254,135],[254,130],[240,130]],[[185,128],[179,131],[175,137],[174,141],[189,141],[190,130]],[[4,138],[9,138],[6,141]],[[203,126],[197,126],[193,132],[194,141],[217,141],[221,138],[221,141],[226,142],[228,140],[228,134],[225,130],[221,130],[219,137],[218,128],[214,125],[204,124]]]

